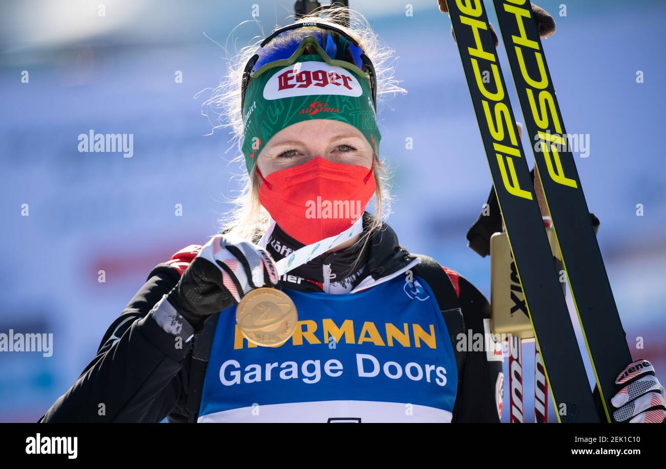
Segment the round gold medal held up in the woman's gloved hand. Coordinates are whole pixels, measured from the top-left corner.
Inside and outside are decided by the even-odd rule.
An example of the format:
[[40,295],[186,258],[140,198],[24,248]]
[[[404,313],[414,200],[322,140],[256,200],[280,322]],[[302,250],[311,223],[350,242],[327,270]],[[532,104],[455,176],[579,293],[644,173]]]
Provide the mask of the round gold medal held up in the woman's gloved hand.
[[236,323],[248,341],[262,347],[282,345],[296,330],[296,305],[284,291],[257,288],[236,307]]

